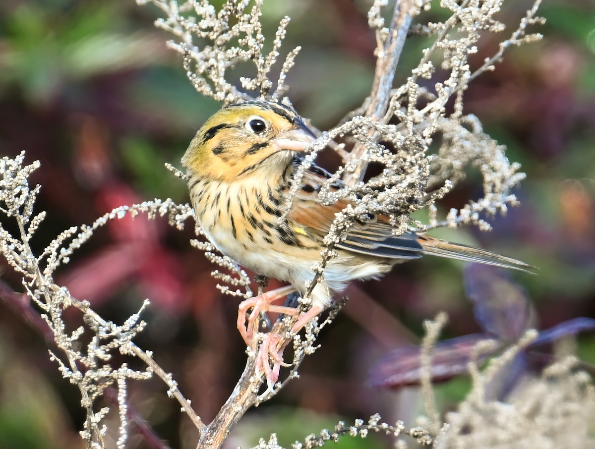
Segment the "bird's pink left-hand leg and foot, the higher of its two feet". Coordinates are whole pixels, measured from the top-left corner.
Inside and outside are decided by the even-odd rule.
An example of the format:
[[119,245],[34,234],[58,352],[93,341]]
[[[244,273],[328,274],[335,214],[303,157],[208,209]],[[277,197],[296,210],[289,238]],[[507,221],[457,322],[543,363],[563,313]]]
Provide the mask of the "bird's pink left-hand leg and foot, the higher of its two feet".
[[[295,315],[296,309],[293,307],[274,306],[273,302],[277,299],[292,293],[295,288],[291,285],[277,288],[276,290],[267,291],[259,296],[247,299],[240,303],[237,311],[237,329],[242,334],[242,338],[247,346],[252,344],[254,334],[258,330],[258,320],[261,312],[278,312],[286,313],[287,315]],[[246,313],[252,309],[248,316],[248,324],[246,324]]]

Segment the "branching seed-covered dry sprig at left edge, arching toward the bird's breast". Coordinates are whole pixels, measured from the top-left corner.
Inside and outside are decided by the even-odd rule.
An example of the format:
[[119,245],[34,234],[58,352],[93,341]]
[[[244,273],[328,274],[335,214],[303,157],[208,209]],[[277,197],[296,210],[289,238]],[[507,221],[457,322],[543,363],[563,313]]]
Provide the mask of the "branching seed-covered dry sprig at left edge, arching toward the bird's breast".
[[[65,287],[55,284],[52,278],[54,270],[61,263],[68,262],[73,250],[80,248],[92,235],[93,230],[105,225],[110,218],[122,218],[126,213],[136,215],[140,211],[147,212],[149,216],[155,216],[158,213],[160,215],[169,213],[170,225],[181,228],[183,227],[181,220],[187,217],[183,212],[187,209],[187,206],[176,205],[171,200],[165,202],[156,200],[150,204],[143,203],[143,205],[131,207],[123,206],[99,218],[92,227],[80,227],[80,233],[72,239],[69,245],[65,245],[65,241],[74,236],[77,228],[74,227],[64,231],[46,247],[41,256],[36,258],[29,241],[43,221],[45,213],[42,212],[32,218],[36,194],[40,187],[36,186],[30,189],[27,177],[39,167],[39,162],[23,167],[23,161],[24,153],[21,153],[16,159],[2,158],[0,160],[3,175],[3,179],[0,179],[3,188],[0,193],[2,193],[4,202],[2,205],[4,207],[0,206],[0,209],[7,217],[15,219],[20,234],[19,240],[5,230],[2,223],[0,223],[0,233],[2,235],[0,250],[8,263],[23,274],[23,285],[27,290],[27,294],[43,310],[43,321],[51,329],[52,339],[55,344],[64,352],[65,361],[62,361],[60,357],[49,351],[50,358],[57,361],[62,375],[69,379],[71,383],[77,385],[80,390],[82,406],[86,409],[87,414],[85,430],[81,433],[87,442],[87,447],[105,446],[103,438],[105,429],[101,428],[100,423],[108,409],[104,407],[96,412],[93,406],[96,398],[114,381],[118,382],[118,406],[120,407],[122,419],[118,448],[124,447],[127,437],[125,425],[127,410],[127,404],[125,403],[126,379],[146,379],[151,375],[151,372],[156,373],[168,385],[168,394],[177,398],[183,410],[188,413],[199,431],[202,431],[204,427],[202,420],[194,413],[192,407],[190,407],[190,402],[180,393],[177,383],[173,381],[171,375],[165,373],[152,359],[148,351],[144,351],[132,343],[131,339],[144,326],[143,322],[139,322],[140,312],[131,316],[124,325],[116,326],[90,309],[89,303],[79,301],[71,296]],[[17,192],[18,196],[11,197],[7,195],[7,192]],[[7,241],[10,241],[10,244],[7,244]],[[48,256],[48,258],[45,262],[42,262],[45,256]],[[45,268],[42,268],[44,264]],[[140,311],[147,304],[148,301],[143,304]],[[82,335],[84,329],[80,327],[71,334],[66,332],[61,314],[68,306],[75,306],[81,310],[86,325],[95,332],[95,338],[87,346],[86,354],[73,349],[74,341]],[[102,340],[108,340],[109,343],[102,344],[100,343]],[[118,369],[112,369],[110,366],[104,365],[103,362],[110,357],[109,350],[114,348],[118,348],[122,354],[139,357],[149,366],[149,371],[130,370],[126,364]],[[120,401],[120,393],[122,393],[122,401]]]

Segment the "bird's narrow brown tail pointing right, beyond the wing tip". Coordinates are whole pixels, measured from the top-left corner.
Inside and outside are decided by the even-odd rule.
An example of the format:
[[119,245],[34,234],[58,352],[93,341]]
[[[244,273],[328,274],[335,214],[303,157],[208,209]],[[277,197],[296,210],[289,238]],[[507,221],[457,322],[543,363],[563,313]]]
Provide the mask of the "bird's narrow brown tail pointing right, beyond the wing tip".
[[520,260],[500,256],[499,254],[483,249],[475,248],[460,243],[450,243],[450,241],[440,238],[419,234],[418,240],[422,247],[422,253],[442,258],[465,260],[466,262],[486,263],[487,265],[501,266],[502,268],[512,268],[519,271],[531,272],[534,268]]

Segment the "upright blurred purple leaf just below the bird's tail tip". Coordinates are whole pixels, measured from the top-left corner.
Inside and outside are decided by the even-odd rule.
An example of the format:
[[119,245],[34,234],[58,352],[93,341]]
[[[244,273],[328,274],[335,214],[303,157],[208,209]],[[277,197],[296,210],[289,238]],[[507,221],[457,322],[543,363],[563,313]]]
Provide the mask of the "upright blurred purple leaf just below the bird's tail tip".
[[527,328],[529,302],[505,269],[469,263],[465,290],[474,303],[475,319],[486,332],[507,343],[518,340]]

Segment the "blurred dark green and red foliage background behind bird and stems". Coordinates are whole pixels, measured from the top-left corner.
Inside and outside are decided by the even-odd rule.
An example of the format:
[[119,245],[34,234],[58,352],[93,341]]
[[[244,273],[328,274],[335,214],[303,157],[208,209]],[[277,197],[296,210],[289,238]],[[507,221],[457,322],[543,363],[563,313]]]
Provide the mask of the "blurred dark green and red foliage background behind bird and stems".
[[[497,51],[528,7],[505,2],[499,18],[508,29],[483,42],[472,59],[475,67]],[[320,129],[336,124],[369,94],[375,40],[367,8],[353,0],[265,2],[268,36],[284,14],[292,17],[284,52],[303,49],[290,72],[289,96]],[[471,84],[465,102],[466,112],[477,115],[527,173],[516,192],[521,207],[494,219],[491,233],[436,235],[537,266],[537,275],[512,277],[530,300],[530,325],[545,329],[595,317],[595,7],[591,0],[547,0],[540,11],[547,24],[536,31],[544,39],[509,51],[494,73]],[[41,161],[33,181],[43,186],[37,210],[48,211],[48,218],[33,242],[37,253],[65,228],[90,224],[116,206],[155,197],[187,202],[186,185],[164,163],[179,166],[196,130],[219,105],[190,86],[180,56],[165,47],[171,36],[153,27],[159,14],[132,0],[1,2],[0,156],[26,150],[27,162]],[[444,12],[425,18],[443,20]],[[397,83],[425,46],[423,38],[408,40]],[[330,168],[336,162],[333,155],[320,161]],[[444,211],[479,193],[478,179],[469,177],[443,203]],[[144,317],[149,326],[137,343],[154,351],[209,421],[231,393],[246,356],[235,328],[237,300],[215,288],[212,266],[189,246],[192,237],[191,229],[180,233],[159,219],[113,221],[57,280],[115,322],[151,299]],[[23,290],[4,263],[0,275]],[[271,288],[277,285],[271,280]],[[450,317],[444,338],[480,332],[466,293],[462,264],[432,258],[399,266],[380,282],[355,282],[346,292],[350,302],[324,330],[322,348],[303,363],[300,379],[250,410],[228,447],[250,447],[273,431],[287,445],[338,420],[376,412],[389,422],[415,425],[422,410],[417,389],[369,387],[368,370],[388,351],[419,343],[422,321],[440,310]],[[68,312],[74,329],[79,316]],[[3,304],[2,448],[83,447],[79,392],[48,360],[44,338]],[[577,352],[595,363],[592,334],[578,337]],[[441,410],[456,407],[469,385],[466,376],[440,384]],[[192,425],[159,381],[130,385],[130,400],[171,447],[194,447]],[[115,423],[117,416],[110,419]],[[340,447],[386,445],[378,437]],[[129,447],[152,446],[133,436]]]

